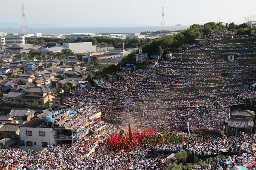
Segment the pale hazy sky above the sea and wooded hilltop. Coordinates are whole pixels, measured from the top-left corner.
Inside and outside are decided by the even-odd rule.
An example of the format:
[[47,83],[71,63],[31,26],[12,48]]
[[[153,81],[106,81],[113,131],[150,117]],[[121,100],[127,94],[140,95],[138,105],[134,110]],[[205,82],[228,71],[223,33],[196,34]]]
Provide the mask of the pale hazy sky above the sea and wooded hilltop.
[[[240,24],[256,14],[256,0],[5,0],[0,22],[60,26],[160,26],[162,5],[166,25],[204,24],[219,20]],[[0,25],[1,27],[1,25]]]

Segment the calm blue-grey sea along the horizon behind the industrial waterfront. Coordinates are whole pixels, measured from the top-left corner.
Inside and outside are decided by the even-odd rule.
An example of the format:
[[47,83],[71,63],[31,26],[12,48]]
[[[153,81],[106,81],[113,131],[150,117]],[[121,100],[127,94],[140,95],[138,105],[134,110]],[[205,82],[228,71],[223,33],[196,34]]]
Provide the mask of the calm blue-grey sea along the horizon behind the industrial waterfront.
[[[166,30],[181,30],[187,29],[185,26],[166,26]],[[42,33],[43,35],[59,35],[69,33],[140,33],[144,31],[159,31],[158,26],[143,26],[143,27],[69,27],[69,28],[28,28],[29,33]],[[20,33],[21,28],[0,28],[0,32],[5,33]]]

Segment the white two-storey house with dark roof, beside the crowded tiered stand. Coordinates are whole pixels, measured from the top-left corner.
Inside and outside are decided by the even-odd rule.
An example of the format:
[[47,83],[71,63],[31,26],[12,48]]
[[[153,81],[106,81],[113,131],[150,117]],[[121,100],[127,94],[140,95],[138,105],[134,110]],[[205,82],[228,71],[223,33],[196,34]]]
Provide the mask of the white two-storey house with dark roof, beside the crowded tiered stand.
[[41,151],[53,145],[53,128],[47,126],[45,119],[33,119],[20,126],[20,142],[22,149]]

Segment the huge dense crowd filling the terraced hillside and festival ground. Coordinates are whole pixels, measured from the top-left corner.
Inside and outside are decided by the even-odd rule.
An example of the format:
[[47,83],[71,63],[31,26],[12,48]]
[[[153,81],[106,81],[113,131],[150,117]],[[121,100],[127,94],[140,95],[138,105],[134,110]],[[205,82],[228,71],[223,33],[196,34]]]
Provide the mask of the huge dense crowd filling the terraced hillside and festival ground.
[[[212,40],[229,36],[230,32],[211,33]],[[54,124],[74,131],[66,134],[75,139],[73,145],[55,143],[40,152],[2,149],[1,169],[162,170],[169,164],[163,151],[181,150],[201,156],[251,151],[248,155],[196,165],[194,170],[255,162],[255,134],[226,135],[230,107],[256,96],[251,86],[256,83],[255,67],[238,65],[237,60],[211,59],[209,48],[247,50],[254,44],[174,48],[178,51],[174,62],[158,63],[158,55],[148,58],[147,54],[139,54],[139,60],[155,61],[155,69],[125,68],[106,79],[95,79],[101,90],[80,84],[62,95],[63,103],[71,108],[54,113],[51,118]],[[230,52],[234,53],[240,54]],[[222,73],[229,76],[223,77]],[[95,116],[100,111],[102,115]],[[224,131],[225,135],[188,135],[187,122],[191,129]],[[81,126],[84,129],[80,131]],[[83,134],[86,135],[79,139]],[[154,150],[157,154],[153,154]]]

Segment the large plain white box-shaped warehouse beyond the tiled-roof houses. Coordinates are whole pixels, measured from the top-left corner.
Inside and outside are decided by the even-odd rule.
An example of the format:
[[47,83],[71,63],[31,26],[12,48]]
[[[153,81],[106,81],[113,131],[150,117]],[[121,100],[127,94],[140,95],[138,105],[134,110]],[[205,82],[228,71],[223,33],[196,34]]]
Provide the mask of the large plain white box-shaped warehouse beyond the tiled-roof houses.
[[69,48],[74,53],[96,52],[97,51],[97,46],[93,46],[93,42],[64,43],[63,47]]

